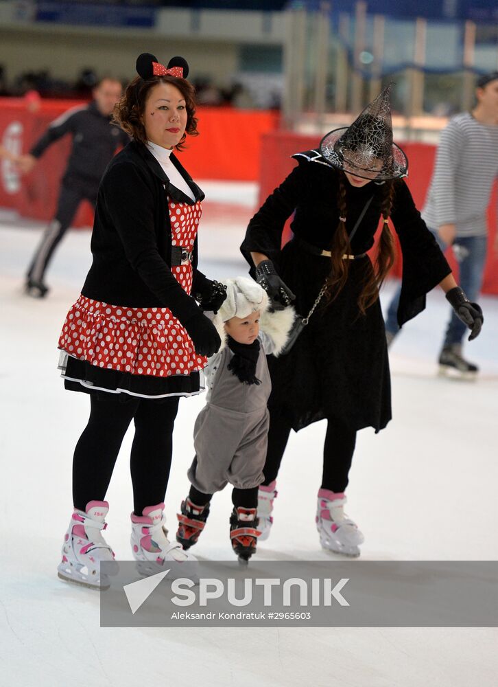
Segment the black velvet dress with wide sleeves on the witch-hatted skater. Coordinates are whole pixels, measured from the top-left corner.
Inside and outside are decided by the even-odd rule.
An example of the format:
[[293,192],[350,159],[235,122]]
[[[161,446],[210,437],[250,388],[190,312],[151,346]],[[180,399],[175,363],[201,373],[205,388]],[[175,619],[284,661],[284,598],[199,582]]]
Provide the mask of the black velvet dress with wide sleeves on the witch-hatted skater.
[[[296,294],[294,306],[307,315],[330,271],[330,260],[300,249],[291,240],[281,249],[285,221],[295,211],[294,237],[322,250],[330,248],[339,223],[337,190],[340,174],[316,151],[294,156],[298,166],[268,197],[249,223],[241,251],[265,254]],[[368,210],[352,241],[355,255],[368,251],[379,224],[383,185],[353,188],[347,181],[346,230],[351,233],[368,199]],[[427,229],[404,181],[394,181],[391,219],[403,253],[403,286],[399,324],[425,308],[425,295],[451,273],[447,260]],[[270,357],[270,411],[284,412],[295,431],[313,422],[336,418],[352,429],[386,427],[391,394],[386,332],[379,300],[365,315],[357,298],[361,280],[372,270],[368,257],[351,260],[346,285],[331,303],[322,302],[286,356]]]

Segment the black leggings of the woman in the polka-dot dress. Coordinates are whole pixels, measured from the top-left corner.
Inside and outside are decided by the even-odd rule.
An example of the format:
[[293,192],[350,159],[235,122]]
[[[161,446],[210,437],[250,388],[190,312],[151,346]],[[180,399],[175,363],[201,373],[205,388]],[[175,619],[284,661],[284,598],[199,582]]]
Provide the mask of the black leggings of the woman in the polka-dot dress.
[[130,471],[135,515],[164,501],[171,467],[172,434],[178,396],[149,399],[97,392],[92,394],[88,425],[74,451],[73,504],[85,510],[103,501],[121,442],[135,425]]

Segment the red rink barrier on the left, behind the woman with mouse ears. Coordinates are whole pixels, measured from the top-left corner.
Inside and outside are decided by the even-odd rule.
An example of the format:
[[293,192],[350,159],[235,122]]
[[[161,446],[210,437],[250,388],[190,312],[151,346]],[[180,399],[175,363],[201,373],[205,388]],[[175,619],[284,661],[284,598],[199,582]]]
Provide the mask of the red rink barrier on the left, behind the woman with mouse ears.
[[[21,98],[0,98],[0,145],[27,153],[52,120],[78,104],[73,100],[42,100],[40,109],[32,113]],[[261,135],[276,129],[278,113],[202,107],[198,119],[200,135],[188,137],[188,147],[178,153],[192,177],[256,181],[261,166]],[[69,136],[54,143],[23,179],[11,164],[1,161],[0,207],[12,207],[25,217],[51,218],[70,144]],[[84,203],[74,226],[92,223],[91,207]]]

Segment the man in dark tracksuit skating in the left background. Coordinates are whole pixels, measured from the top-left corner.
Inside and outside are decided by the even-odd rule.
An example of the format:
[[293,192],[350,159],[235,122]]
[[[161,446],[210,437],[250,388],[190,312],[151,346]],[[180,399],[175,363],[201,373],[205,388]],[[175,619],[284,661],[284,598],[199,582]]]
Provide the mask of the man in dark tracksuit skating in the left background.
[[70,134],[73,144],[57,201],[56,216],[49,223],[36,249],[26,275],[26,291],[43,298],[49,287],[45,271],[62,236],[67,232],[80,203],[88,201],[95,209],[102,174],[116,150],[126,146],[130,137],[110,123],[115,104],[121,98],[121,83],[104,78],[93,89],[93,100],[73,107],[52,122],[28,155],[19,157],[21,172],[30,172],[51,144]]

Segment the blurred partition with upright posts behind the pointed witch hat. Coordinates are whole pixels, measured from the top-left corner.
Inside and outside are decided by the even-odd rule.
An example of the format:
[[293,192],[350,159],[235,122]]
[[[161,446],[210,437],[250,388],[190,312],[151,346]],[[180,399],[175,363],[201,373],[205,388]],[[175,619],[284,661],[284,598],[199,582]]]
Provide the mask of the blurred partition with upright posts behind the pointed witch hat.
[[283,120],[292,130],[347,124],[394,80],[404,137],[431,140],[445,117],[473,106],[476,75],[498,68],[498,26],[392,19],[368,14],[364,0],[351,14],[332,5],[286,12]]

